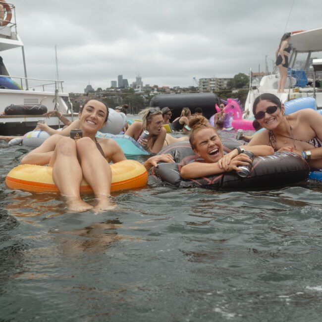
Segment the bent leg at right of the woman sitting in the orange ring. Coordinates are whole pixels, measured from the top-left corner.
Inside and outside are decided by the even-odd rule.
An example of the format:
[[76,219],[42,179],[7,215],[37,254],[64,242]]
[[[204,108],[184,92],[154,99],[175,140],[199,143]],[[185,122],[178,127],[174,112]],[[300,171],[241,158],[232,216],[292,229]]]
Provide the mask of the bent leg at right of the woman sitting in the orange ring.
[[84,137],[78,140],[76,146],[83,176],[92,187],[98,200],[95,210],[112,209],[113,207],[110,202],[112,172],[108,162],[90,138]]

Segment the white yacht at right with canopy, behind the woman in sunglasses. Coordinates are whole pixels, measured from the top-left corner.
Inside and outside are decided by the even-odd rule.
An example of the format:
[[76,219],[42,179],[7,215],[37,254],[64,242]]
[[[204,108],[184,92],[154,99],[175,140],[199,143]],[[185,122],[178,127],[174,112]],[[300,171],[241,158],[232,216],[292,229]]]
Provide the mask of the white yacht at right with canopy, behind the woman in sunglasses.
[[254,116],[253,103],[263,93],[272,93],[283,103],[300,97],[314,97],[317,108],[322,108],[322,59],[313,59],[322,53],[322,28],[293,32],[289,44],[292,51],[285,93],[277,93],[277,73],[264,76],[259,86],[252,86],[250,77],[250,90],[245,103],[246,117]]

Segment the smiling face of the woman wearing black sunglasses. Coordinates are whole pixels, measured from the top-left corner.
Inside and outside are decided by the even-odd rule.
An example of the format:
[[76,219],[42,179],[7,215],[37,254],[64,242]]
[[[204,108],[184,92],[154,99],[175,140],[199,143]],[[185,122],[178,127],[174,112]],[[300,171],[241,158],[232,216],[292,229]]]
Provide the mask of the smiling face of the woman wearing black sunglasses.
[[[275,106],[275,103],[272,103],[268,100],[262,100],[257,104],[255,114],[257,114],[260,111],[266,112],[268,107]],[[281,107],[277,107],[274,113],[269,114],[266,112],[263,118],[258,119],[258,122],[262,125],[262,127],[265,127],[268,130],[273,130],[281,123],[283,119],[283,111],[284,105],[282,104]]]

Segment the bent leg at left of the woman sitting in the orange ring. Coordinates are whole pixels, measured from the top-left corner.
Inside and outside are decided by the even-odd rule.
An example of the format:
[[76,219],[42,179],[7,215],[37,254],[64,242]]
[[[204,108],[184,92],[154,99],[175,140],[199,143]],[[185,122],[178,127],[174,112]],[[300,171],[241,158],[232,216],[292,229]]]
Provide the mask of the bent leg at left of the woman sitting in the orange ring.
[[77,159],[75,141],[62,137],[56,145],[49,165],[53,166],[54,183],[66,198],[68,210],[83,212],[92,209],[91,205],[80,198],[79,187],[83,174]]

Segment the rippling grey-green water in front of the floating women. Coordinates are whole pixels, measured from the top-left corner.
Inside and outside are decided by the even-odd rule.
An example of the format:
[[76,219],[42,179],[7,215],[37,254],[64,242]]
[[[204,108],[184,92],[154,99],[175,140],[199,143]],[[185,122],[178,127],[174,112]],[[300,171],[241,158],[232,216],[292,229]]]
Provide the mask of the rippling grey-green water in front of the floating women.
[[150,176],[113,211],[67,214],[57,194],[6,189],[28,151],[0,143],[1,321],[321,321],[321,183],[218,192]]

